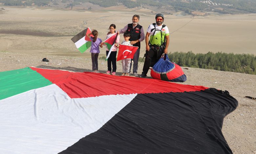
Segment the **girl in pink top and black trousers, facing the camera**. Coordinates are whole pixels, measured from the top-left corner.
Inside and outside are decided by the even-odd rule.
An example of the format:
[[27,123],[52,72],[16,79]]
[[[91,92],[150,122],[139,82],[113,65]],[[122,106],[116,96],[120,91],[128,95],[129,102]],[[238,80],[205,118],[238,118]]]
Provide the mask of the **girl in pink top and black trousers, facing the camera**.
[[[108,34],[107,34],[107,37],[106,37],[106,39],[108,39],[108,38],[110,38],[110,37],[112,37],[113,35],[115,35],[116,34],[116,25],[115,24],[111,24],[110,26],[109,26],[109,32],[108,32]],[[117,39],[116,39],[116,42],[113,42],[113,44],[115,44],[115,43],[118,43],[119,42],[119,39],[120,39],[120,36],[119,36],[119,34],[117,34]],[[103,45],[106,45],[106,44],[103,44]],[[112,46],[112,44],[111,44],[111,46]],[[117,56],[117,47],[114,45],[114,47],[112,48],[112,50],[111,51],[109,51],[109,49],[108,49],[108,47],[106,46],[106,55],[108,56],[108,53],[109,52],[111,52],[110,53],[110,56],[109,56],[109,58],[108,58],[108,70],[106,71],[106,73],[107,74],[110,74],[111,73],[111,63],[112,63],[112,67],[113,67],[113,69],[112,69],[112,75],[116,75],[116,70],[117,70],[117,58],[116,58],[116,56]]]

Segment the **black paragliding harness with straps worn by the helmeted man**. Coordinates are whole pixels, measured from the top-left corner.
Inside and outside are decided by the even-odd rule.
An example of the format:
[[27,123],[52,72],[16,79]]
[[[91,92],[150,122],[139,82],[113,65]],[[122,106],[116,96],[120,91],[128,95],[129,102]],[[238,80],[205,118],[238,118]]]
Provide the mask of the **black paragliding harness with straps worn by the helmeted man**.
[[[163,42],[162,42],[162,29],[165,27],[165,25],[162,25],[162,28],[159,30],[159,29],[156,29],[156,23],[153,23],[152,25],[154,25],[154,29],[151,29],[151,32],[153,31],[153,30],[155,30],[154,31],[154,33],[153,33],[153,35],[152,35],[152,37],[155,35],[155,32],[158,30],[158,31],[160,31],[160,33],[161,33],[161,45],[160,46],[156,46],[156,45],[151,45],[150,44],[150,42],[149,42],[149,50],[150,49],[152,49],[153,51],[155,51],[156,53],[157,53],[157,55],[155,55],[155,56],[157,56],[158,58],[160,58],[160,56],[162,55],[162,53],[163,53],[163,49],[165,48],[165,37],[164,37],[164,40],[163,40]],[[159,52],[160,51],[160,52]],[[144,54],[144,57],[148,57],[150,60],[151,60],[151,57],[149,57],[149,55],[148,55],[148,51],[146,51],[146,53]],[[143,57],[143,58],[144,58]]]

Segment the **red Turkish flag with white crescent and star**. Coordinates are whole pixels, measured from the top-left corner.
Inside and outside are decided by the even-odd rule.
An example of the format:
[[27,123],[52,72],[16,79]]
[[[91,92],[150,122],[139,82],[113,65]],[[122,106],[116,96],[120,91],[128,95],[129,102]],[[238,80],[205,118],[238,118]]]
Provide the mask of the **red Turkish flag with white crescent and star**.
[[126,59],[126,58],[131,58],[133,59],[133,55],[137,51],[139,47],[134,47],[134,46],[127,46],[127,45],[119,45],[119,51],[117,55],[117,61]]

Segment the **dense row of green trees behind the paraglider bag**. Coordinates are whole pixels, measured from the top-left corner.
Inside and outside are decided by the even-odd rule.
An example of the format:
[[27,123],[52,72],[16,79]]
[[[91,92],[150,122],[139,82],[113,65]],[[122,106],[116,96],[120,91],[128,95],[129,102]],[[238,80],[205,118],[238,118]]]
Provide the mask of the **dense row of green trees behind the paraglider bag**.
[[256,56],[252,54],[234,54],[208,52],[206,54],[192,51],[173,52],[168,54],[172,62],[183,67],[216,69],[247,74],[256,74]]

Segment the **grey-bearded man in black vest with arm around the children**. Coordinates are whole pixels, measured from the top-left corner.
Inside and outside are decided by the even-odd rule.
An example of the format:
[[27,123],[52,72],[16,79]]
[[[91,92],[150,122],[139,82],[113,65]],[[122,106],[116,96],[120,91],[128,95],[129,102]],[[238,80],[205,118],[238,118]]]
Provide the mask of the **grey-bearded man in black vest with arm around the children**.
[[[129,41],[131,41],[131,45],[139,47],[137,49],[137,51],[135,52],[133,59],[132,59],[133,75],[136,77],[139,77],[139,75],[137,74],[137,70],[138,70],[138,61],[139,61],[140,42],[145,39],[145,34],[144,34],[143,27],[138,24],[139,15],[135,14],[132,18],[132,22],[133,22],[132,24],[128,24],[123,29],[118,30],[117,33],[122,34],[126,31],[130,32],[131,37],[130,37]],[[131,68],[132,68],[132,62],[130,65],[130,72],[131,72]]]

